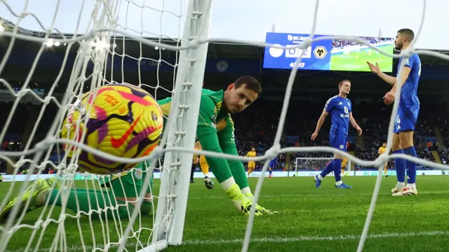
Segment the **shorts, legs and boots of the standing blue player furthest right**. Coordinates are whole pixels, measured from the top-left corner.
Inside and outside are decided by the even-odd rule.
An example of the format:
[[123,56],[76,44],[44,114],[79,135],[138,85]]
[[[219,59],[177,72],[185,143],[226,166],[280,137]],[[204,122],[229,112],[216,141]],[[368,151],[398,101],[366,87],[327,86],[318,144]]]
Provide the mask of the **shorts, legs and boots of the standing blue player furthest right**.
[[[415,131],[415,124],[420,111],[420,106],[404,106],[401,110],[402,113],[398,113],[398,116],[401,115],[401,117],[398,117],[398,122],[396,123],[400,125],[401,128],[401,132],[398,132],[398,139],[401,142],[403,153],[416,158],[415,146],[413,145],[413,132]],[[404,166],[407,172],[407,186],[403,187],[400,192],[393,193],[393,196],[417,195],[416,163],[409,160],[404,161]]]

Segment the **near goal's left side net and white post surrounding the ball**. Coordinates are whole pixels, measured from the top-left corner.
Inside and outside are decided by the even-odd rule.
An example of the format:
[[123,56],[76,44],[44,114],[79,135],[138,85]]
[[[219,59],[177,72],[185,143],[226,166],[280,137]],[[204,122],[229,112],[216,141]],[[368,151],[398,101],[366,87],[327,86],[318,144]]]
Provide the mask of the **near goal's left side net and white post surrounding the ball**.
[[[98,0],[67,6],[58,1],[58,7],[77,9],[58,13],[55,8],[47,13],[53,17],[50,23],[34,15],[39,31],[20,27],[24,18],[34,14],[27,4],[15,10],[3,3],[18,18],[1,20],[1,36],[8,39],[8,48],[1,60],[0,80],[11,102],[6,124],[0,127],[0,142],[11,128],[21,123],[27,127],[20,146],[0,152],[8,166],[4,180],[11,182],[0,198],[0,209],[9,209],[0,220],[0,251],[159,251],[180,244],[192,153],[163,153],[156,148],[151,160],[132,160],[76,145],[69,157],[63,144],[74,148],[76,139],[60,138],[67,113],[79,109],[77,101],[83,94],[124,83],[141,87],[156,99],[172,97],[159,146],[194,148],[192,132],[196,132],[208,43],[191,44],[208,37],[210,1],[192,0],[187,6],[176,2]],[[56,17],[63,14],[67,14],[65,22],[76,25],[74,34],[64,34],[55,25]],[[23,82],[15,85],[4,78],[6,63],[25,46],[33,48],[27,53],[36,57]],[[60,70],[53,77],[48,73],[53,85],[39,91],[33,76],[48,64],[58,64]],[[149,68],[156,69],[156,75],[148,73]],[[30,120],[24,122],[18,113],[22,102],[29,100],[34,107]],[[79,137],[86,137],[86,132]],[[81,173],[80,150],[112,162],[143,165],[107,176]],[[26,216],[25,209],[31,211]]]

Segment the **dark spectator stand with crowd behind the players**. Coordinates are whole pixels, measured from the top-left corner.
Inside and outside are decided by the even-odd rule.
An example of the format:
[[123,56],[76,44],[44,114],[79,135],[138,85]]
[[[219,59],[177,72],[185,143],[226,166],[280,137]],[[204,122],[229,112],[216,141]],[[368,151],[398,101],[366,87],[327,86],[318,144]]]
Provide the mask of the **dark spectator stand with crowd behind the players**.
[[[354,104],[354,101],[353,101]],[[0,120],[6,120],[10,104],[0,104]],[[19,109],[23,109],[23,114],[29,111],[29,104],[20,104]],[[239,150],[239,155],[246,155],[251,148],[256,148],[257,155],[263,155],[265,151],[271,148],[276,130],[279,123],[279,116],[281,115],[281,102],[271,102],[264,99],[257,100],[255,104],[249,106],[248,109],[242,113],[234,114],[233,120],[235,123],[235,139]],[[316,121],[318,120],[321,111],[323,110],[322,104],[316,104],[311,106],[311,101],[297,101],[293,100],[290,104],[290,111],[288,111],[286,118],[286,125],[284,125],[283,135],[294,136],[294,141],[286,141],[283,138],[281,141],[281,147],[286,146],[328,146],[328,130],[330,129],[330,118],[326,120],[319,136],[315,141],[310,140],[311,134],[316,127]],[[300,114],[293,108],[307,108],[302,110]],[[357,115],[359,125],[363,129],[363,141],[357,139],[356,132],[354,130],[349,131],[349,136],[352,136],[352,140],[348,144],[348,150],[354,151],[354,155],[362,160],[375,160],[379,156],[377,153],[382,143],[387,139],[387,132],[389,126],[389,120],[391,116],[391,106],[385,106],[382,102],[361,102],[353,108],[354,113]],[[419,158],[424,158],[430,161],[436,161],[432,151],[437,151],[441,157],[441,161],[445,164],[449,162],[449,124],[447,120],[443,120],[443,116],[438,118],[435,116],[434,110],[431,106],[422,105],[420,111],[420,118],[418,119],[415,131],[415,148],[417,149],[417,155]],[[443,110],[440,111],[444,113]],[[22,113],[22,112],[21,112]],[[362,116],[368,115],[368,116]],[[50,122],[51,114],[47,114],[48,118],[44,118],[43,121]],[[22,131],[25,127],[26,118],[14,117],[11,127],[16,132]],[[25,123],[24,123],[25,122]],[[436,141],[435,128],[441,129],[441,134],[445,142],[443,144]],[[37,137],[35,141],[39,139]],[[446,146],[446,147],[443,147]],[[23,148],[23,144],[4,144],[0,146],[0,149],[6,151],[19,151]],[[54,148],[53,153],[56,154]],[[330,158],[332,153],[293,153],[293,154],[281,154],[278,157],[279,163],[276,165],[277,169],[289,169],[295,167],[296,158]],[[257,163],[256,169],[260,169],[263,163]],[[394,164],[392,161],[389,163],[389,167],[392,168]],[[46,167],[46,172],[50,172],[51,167]],[[311,167],[315,169],[314,167]],[[23,172],[27,169],[27,165],[24,165],[19,172]],[[6,162],[0,161],[0,172],[5,172]]]

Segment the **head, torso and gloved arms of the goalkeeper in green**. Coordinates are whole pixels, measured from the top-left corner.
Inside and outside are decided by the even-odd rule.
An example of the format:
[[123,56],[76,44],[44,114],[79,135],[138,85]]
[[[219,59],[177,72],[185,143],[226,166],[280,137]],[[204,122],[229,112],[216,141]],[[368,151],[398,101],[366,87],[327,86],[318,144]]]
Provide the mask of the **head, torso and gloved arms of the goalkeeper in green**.
[[[227,90],[202,90],[196,137],[204,151],[239,155],[234,142],[234,122],[231,114],[239,113],[250,106],[262,92],[255,78],[243,76],[228,85]],[[158,101],[162,113],[170,113],[171,97]],[[239,160],[206,157],[215,178],[234,204],[248,215],[253,204],[253,194],[243,164]],[[256,205],[256,215],[272,214]]]

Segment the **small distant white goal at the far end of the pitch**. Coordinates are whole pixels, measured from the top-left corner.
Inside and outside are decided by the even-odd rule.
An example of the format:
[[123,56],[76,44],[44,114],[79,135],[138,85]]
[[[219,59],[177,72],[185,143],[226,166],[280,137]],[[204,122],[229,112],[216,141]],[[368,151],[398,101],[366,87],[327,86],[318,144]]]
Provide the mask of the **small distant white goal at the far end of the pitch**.
[[[332,160],[333,158],[296,158],[295,176],[310,176],[321,172]],[[351,160],[343,160],[342,171],[342,176],[351,175]],[[333,172],[330,175],[333,175]]]

